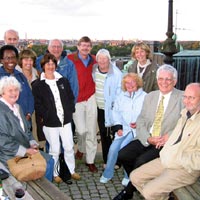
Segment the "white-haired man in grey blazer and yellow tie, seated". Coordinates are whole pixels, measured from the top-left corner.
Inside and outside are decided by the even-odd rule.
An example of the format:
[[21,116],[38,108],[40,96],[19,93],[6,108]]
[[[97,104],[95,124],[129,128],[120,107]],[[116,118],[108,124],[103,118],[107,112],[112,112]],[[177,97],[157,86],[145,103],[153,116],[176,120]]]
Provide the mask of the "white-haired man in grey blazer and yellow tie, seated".
[[[156,73],[159,90],[146,95],[142,111],[136,121],[136,138],[120,150],[118,160],[129,175],[137,167],[159,157],[159,152],[171,135],[183,108],[183,92],[174,88],[177,71],[171,65],[162,65]],[[162,101],[163,99],[163,101]],[[158,126],[156,120],[160,103],[163,113]],[[159,127],[159,131],[158,130]],[[114,200],[128,200],[136,188],[129,181]]]

